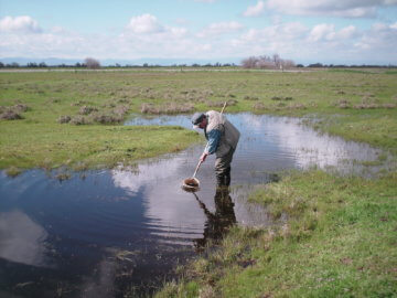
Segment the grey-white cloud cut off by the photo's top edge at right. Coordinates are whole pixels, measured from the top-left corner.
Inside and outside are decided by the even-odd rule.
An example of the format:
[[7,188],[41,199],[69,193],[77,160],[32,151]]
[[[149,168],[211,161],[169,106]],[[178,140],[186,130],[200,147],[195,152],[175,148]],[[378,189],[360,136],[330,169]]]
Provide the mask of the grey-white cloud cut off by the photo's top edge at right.
[[267,7],[288,14],[373,18],[377,8],[395,6],[397,0],[269,0]]

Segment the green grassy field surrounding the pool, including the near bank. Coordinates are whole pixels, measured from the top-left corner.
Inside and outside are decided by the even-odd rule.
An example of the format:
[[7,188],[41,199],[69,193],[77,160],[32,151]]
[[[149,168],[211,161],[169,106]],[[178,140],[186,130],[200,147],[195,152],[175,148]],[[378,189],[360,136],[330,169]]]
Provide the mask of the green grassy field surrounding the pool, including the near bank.
[[[0,107],[24,104],[21,120],[0,120],[0,169],[111,168],[179,151],[201,138],[179,127],[74,126],[82,106],[111,114],[178,107],[314,117],[311,126],[397,156],[395,71],[115,71],[0,73]],[[291,97],[290,100],[278,98]],[[214,107],[215,109],[221,109]],[[89,116],[84,116],[89,120]],[[124,115],[126,118],[126,115]],[[386,153],[379,160],[386,159]],[[393,297],[396,291],[397,175],[366,180],[321,171],[257,185],[279,227],[234,227],[218,249],[184,268],[159,297]]]

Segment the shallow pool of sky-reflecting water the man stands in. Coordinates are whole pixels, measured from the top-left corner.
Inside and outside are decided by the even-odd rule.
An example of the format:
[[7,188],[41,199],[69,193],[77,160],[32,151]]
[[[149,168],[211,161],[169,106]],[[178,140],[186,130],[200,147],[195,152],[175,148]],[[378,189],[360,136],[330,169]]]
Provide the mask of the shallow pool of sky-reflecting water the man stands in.
[[[214,158],[200,168],[201,191],[181,189],[203,145],[148,160],[133,171],[72,174],[60,182],[32,170],[0,174],[0,296],[122,297],[151,294],[172,268],[195,256],[235,222],[271,224],[245,202],[250,184],[275,172],[312,166],[371,174],[382,153],[366,145],[321,136],[298,119],[227,115],[242,138],[232,163],[232,192],[216,192]],[[189,116],[135,118],[127,125],[180,125]],[[54,173],[55,175],[55,173]]]

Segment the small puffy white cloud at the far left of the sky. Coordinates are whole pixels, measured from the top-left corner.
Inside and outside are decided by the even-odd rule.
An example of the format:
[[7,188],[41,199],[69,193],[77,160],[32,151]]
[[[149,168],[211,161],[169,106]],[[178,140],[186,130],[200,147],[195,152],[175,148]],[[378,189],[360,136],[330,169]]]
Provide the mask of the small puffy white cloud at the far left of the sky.
[[0,20],[0,32],[40,33],[37,21],[29,15],[4,17]]

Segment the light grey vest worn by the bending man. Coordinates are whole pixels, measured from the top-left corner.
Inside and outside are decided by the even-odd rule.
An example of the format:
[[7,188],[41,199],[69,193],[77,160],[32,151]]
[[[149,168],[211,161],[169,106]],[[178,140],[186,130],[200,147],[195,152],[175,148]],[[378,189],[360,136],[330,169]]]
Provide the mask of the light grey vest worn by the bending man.
[[206,132],[208,134],[212,129],[221,131],[219,143],[215,152],[216,157],[225,156],[230,149],[236,150],[240,135],[238,129],[216,110],[208,110],[205,115],[208,119]]

